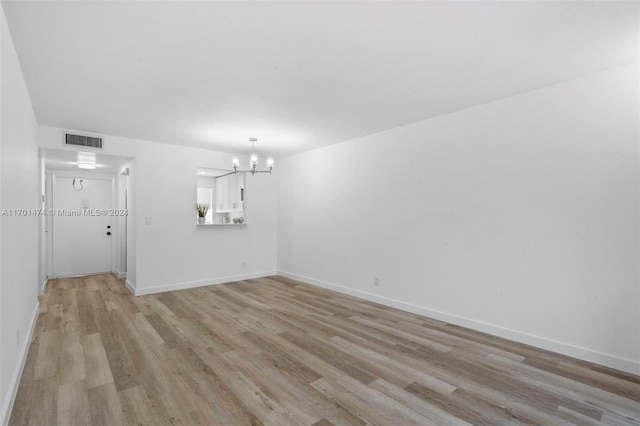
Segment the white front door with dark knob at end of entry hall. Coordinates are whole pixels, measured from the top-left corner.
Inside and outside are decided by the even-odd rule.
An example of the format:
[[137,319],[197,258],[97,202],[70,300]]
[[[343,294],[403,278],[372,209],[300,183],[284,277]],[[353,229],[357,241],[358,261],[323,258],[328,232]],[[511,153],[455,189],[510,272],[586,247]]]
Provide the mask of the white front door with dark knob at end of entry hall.
[[112,199],[112,180],[54,176],[54,276],[111,272]]

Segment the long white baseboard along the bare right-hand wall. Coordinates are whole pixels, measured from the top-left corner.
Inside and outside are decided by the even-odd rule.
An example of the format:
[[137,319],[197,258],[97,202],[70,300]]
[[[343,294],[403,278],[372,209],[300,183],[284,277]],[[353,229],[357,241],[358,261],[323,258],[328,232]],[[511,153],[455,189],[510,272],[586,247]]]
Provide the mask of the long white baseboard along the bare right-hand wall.
[[574,346],[569,343],[559,342],[557,340],[549,339],[546,337],[523,333],[521,331],[484,323],[471,318],[465,318],[457,315],[448,314],[446,312],[436,311],[436,310],[425,308],[422,306],[413,305],[411,303],[402,302],[400,300],[382,297],[377,294],[368,293],[361,290],[355,290],[355,289],[344,287],[338,284],[332,284],[325,281],[320,281],[313,278],[305,277],[302,275],[297,275],[291,272],[278,271],[278,275],[282,275],[283,277],[301,281],[306,284],[311,284],[317,287],[322,287],[329,290],[337,291],[339,293],[355,296],[371,302],[380,303],[381,305],[389,306],[392,308],[400,309],[400,310],[411,312],[418,315],[423,315],[423,316],[444,321],[450,324],[470,328],[472,330],[481,331],[483,333],[491,334],[493,336],[503,337],[505,339],[513,340],[520,343],[525,343],[527,345],[535,346],[541,349],[546,349],[552,352],[578,358],[584,361],[589,361],[595,364],[604,365],[606,367],[615,368],[617,370],[625,371],[627,373],[640,375],[640,362],[634,361],[631,359],[621,358],[615,355],[594,351],[592,349]]

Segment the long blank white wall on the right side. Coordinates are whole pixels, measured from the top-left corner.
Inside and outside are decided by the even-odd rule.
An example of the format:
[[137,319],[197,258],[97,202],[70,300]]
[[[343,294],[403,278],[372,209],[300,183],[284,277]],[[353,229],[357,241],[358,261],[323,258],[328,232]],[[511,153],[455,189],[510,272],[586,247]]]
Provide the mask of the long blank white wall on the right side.
[[280,161],[279,271],[639,374],[639,75]]

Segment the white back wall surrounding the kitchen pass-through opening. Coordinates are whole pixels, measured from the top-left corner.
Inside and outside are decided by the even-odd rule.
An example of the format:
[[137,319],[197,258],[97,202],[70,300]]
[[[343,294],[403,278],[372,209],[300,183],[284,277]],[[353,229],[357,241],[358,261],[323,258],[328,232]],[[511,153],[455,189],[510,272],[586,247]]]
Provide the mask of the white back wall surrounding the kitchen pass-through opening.
[[[41,127],[39,144],[60,149],[61,135],[62,129]],[[127,281],[136,294],[275,273],[275,172],[247,177],[246,226],[198,227],[196,169],[229,168],[232,154],[109,135],[104,144],[106,154],[135,158],[129,175],[134,229],[127,240]]]

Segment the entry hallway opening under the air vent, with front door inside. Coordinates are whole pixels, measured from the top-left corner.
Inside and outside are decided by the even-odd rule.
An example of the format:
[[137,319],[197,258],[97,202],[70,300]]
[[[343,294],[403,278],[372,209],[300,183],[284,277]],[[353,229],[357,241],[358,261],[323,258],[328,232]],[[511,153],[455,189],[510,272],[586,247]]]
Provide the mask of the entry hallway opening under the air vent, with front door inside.
[[96,168],[85,170],[77,167],[77,150],[41,148],[39,156],[45,212],[39,293],[51,278],[100,273],[125,278],[134,232],[128,220],[134,158],[96,152]]

